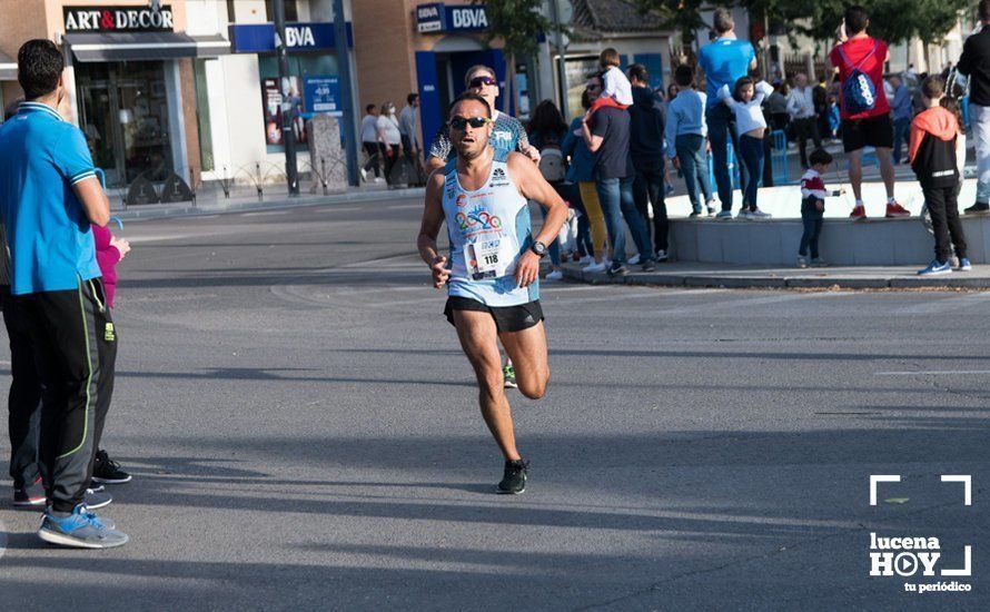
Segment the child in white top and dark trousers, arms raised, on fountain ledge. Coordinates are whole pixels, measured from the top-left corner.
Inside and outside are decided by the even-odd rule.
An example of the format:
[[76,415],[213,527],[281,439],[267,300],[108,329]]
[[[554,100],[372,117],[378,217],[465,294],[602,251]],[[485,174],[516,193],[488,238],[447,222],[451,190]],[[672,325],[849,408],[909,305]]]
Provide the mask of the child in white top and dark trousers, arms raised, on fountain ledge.
[[737,159],[742,159],[746,168],[743,185],[743,207],[739,213],[742,219],[769,219],[770,215],[756,206],[756,189],[763,176],[763,135],[766,120],[763,118],[763,98],[773,93],[773,87],[766,81],[753,85],[753,79],[743,77],[735,81],[730,93],[729,86],[719,90],[719,99],[735,112],[735,131],[739,137]]

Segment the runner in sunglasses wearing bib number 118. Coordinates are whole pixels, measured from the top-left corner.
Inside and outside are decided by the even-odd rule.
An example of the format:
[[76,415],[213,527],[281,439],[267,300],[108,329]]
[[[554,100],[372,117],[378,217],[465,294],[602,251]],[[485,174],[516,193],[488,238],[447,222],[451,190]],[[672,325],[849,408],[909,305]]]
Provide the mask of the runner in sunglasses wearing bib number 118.
[[[454,101],[449,125],[457,158],[427,180],[418,247],[434,286],[448,287],[445,314],[477,376],[482,416],[505,455],[497,492],[517,494],[526,488],[528,463],[516,448],[498,340],[518,367],[523,395],[543,397],[550,367],[539,307],[539,258],[567,209],[529,159],[489,146],[492,124],[492,107],[481,96],[464,93]],[[527,198],[548,208],[535,238]],[[445,220],[449,267],[436,245]]]

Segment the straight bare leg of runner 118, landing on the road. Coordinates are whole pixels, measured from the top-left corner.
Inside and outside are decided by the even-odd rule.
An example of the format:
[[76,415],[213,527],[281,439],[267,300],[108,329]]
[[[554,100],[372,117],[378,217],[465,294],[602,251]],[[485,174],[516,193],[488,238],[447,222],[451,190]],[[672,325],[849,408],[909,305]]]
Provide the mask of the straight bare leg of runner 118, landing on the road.
[[488,313],[454,310],[454,324],[461,347],[474,367],[478,381],[478,404],[488,431],[506,460],[522,458],[516,450],[512,412],[505,398],[502,356],[498,354],[498,328]]

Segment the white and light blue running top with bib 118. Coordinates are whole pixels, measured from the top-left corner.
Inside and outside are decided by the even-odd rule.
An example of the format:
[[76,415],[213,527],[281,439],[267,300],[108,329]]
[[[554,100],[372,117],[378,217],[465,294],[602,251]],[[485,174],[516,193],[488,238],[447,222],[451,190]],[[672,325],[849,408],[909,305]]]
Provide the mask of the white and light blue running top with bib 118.
[[516,261],[529,248],[529,205],[508,174],[508,151],[495,151],[488,180],[468,191],[452,160],[445,168],[444,216],[451,237],[449,295],[486,306],[518,306],[539,298],[538,280],[519,287]]

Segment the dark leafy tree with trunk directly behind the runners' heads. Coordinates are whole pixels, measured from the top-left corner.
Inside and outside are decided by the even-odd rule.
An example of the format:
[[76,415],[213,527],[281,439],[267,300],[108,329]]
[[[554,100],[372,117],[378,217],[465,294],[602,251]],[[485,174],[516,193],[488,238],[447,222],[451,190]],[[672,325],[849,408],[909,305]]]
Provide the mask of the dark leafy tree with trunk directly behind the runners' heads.
[[505,53],[506,63],[505,88],[508,90],[502,101],[504,111],[508,112],[509,100],[512,107],[518,111],[516,59],[536,56],[539,34],[566,32],[567,29],[552,22],[542,12],[544,0],[471,0],[471,3],[485,7],[485,17],[488,21],[488,30],[485,32],[487,42],[491,43],[496,39],[502,41],[502,52]]

